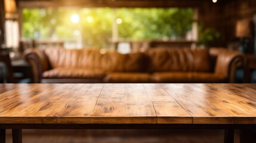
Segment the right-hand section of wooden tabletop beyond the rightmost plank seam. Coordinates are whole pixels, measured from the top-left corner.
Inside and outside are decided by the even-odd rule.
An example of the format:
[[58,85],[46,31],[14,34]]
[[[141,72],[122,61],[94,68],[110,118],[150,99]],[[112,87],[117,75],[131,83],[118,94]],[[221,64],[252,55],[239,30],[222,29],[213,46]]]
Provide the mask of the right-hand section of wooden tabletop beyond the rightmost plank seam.
[[256,123],[256,91],[251,94],[240,91],[246,85],[163,84],[162,87],[193,116],[194,124]]

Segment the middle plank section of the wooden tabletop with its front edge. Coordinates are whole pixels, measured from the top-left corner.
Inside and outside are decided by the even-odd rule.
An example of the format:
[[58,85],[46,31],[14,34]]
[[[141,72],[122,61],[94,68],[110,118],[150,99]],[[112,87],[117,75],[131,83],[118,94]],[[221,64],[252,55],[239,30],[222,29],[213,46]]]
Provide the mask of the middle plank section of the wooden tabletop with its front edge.
[[91,116],[101,123],[157,123],[142,84],[105,84]]

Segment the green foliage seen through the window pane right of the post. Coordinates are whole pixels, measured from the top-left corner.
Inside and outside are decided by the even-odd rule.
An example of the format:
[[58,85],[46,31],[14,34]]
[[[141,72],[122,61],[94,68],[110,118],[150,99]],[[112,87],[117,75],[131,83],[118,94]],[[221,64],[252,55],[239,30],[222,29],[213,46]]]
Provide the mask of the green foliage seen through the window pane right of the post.
[[124,39],[185,38],[192,29],[192,8],[119,8],[119,37]]

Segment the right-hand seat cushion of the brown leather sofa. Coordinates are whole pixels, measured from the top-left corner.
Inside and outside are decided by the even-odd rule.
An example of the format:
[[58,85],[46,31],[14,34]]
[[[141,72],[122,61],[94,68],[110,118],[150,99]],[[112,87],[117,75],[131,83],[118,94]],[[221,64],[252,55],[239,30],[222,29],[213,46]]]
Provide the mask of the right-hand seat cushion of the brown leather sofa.
[[152,76],[158,83],[223,83],[226,80],[214,73],[196,72],[157,72]]

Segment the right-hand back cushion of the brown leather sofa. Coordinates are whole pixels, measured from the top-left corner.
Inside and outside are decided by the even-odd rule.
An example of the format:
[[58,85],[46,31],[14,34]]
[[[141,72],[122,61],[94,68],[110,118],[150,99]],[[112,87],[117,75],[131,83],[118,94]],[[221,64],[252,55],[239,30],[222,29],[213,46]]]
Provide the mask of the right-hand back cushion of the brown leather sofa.
[[212,71],[208,49],[155,48],[146,55],[149,71]]

